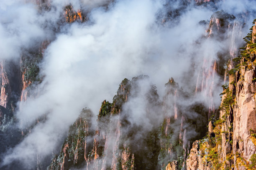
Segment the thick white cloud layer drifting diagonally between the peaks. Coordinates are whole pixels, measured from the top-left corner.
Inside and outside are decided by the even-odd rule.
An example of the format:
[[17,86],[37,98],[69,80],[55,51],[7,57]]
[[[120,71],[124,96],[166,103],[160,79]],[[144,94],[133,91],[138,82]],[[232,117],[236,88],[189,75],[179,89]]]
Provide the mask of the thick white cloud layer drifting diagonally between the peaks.
[[[251,10],[251,1],[243,1],[241,6],[242,1],[238,2],[225,1],[220,7],[236,14]],[[9,151],[4,164],[20,160],[24,166],[33,167],[35,155],[51,154],[83,107],[91,108],[96,116],[103,100],[112,101],[125,77],[149,75],[160,97],[169,77],[181,82],[185,90],[195,89],[203,64],[207,70],[218,52],[230,48],[230,39],[222,43],[201,39],[205,26],[198,22],[209,20],[212,15],[207,8],[191,5],[182,11],[179,22],[168,25],[159,24],[158,18],[159,12],[166,10],[165,1],[118,0],[106,10],[103,0],[73,0],[74,9],[88,10],[90,21],[59,29],[63,7],[69,1],[51,3],[51,10],[40,14],[31,3],[8,1],[0,5],[0,14],[4,16],[0,18],[0,50],[4,59],[19,60],[21,49],[29,49],[41,40],[52,41],[40,65],[40,74],[45,77],[34,92],[38,95],[19,103],[16,113],[20,128],[44,115],[46,121],[38,123]],[[200,45],[195,43],[197,40]],[[222,80],[216,75],[215,81]],[[221,87],[214,90],[213,100],[218,105]],[[199,96],[196,100],[205,100],[204,95]]]

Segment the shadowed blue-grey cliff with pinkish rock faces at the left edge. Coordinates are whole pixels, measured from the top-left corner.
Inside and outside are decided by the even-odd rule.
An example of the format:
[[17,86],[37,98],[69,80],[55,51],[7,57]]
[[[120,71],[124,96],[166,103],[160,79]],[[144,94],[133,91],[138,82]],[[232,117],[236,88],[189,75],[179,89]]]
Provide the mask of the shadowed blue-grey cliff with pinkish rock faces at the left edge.
[[[49,41],[44,41],[38,50],[33,52],[24,51],[20,57],[20,63],[14,61],[1,60],[0,62],[0,125],[3,123],[5,113],[6,116],[12,117],[15,103],[18,100],[26,100],[28,95],[28,87],[32,83],[41,82],[42,77],[38,77],[39,67],[44,55],[44,50]],[[6,121],[5,121],[6,122]]]

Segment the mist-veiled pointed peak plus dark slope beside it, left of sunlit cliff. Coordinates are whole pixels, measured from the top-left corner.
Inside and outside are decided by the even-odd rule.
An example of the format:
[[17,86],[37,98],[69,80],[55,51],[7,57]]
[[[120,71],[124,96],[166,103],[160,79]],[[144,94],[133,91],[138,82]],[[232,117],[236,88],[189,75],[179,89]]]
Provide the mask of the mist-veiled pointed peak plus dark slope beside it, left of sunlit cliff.
[[[207,108],[200,103],[184,104],[189,100],[189,95],[179,87],[173,78],[166,83],[166,95],[164,96],[165,119],[161,126],[159,164],[162,169],[172,161],[177,161],[177,170],[186,167],[186,159],[189,153],[191,141],[205,135],[205,123],[207,123]],[[201,122],[196,122],[189,114],[194,112],[200,117]],[[194,125],[197,128],[192,128]],[[188,128],[190,127],[190,128]],[[197,135],[189,136],[196,132]]]

